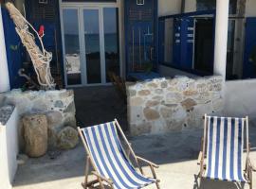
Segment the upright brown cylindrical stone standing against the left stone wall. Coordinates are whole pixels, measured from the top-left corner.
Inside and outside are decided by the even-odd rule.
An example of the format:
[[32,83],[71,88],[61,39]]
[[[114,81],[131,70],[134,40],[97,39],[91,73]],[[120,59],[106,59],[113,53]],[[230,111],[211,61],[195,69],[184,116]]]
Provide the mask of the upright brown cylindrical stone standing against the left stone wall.
[[47,119],[44,114],[23,117],[25,151],[29,157],[37,158],[46,154]]

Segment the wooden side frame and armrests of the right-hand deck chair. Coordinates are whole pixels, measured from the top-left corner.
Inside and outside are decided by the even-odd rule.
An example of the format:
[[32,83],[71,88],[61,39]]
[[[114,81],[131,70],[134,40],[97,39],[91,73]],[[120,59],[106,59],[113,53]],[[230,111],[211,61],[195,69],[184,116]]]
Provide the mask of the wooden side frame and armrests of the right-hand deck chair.
[[[201,141],[201,151],[198,155],[198,161],[197,164],[200,165],[200,172],[199,172],[199,178],[202,180],[204,178],[204,173],[206,171],[207,164],[205,163],[205,159],[207,158],[207,131],[208,131],[208,123],[207,123],[207,114],[204,116],[204,136]],[[255,166],[251,163],[249,159],[249,152],[250,152],[250,144],[248,140],[248,116],[246,118],[243,118],[243,120],[246,123],[246,148],[247,148],[247,161],[246,161],[246,168],[245,168],[245,176],[247,179],[247,183],[249,184],[249,188],[252,189],[252,171],[256,171]]]

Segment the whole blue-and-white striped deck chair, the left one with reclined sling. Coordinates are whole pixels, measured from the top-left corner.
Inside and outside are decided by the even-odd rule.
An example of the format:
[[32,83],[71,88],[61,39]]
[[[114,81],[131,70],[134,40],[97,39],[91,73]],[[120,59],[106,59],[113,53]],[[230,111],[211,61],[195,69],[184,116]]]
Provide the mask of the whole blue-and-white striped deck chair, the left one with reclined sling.
[[[100,184],[100,188],[104,188],[107,185],[113,189],[132,189],[143,188],[152,183],[155,183],[156,187],[159,188],[159,180],[156,179],[154,170],[154,167],[158,166],[135,155],[117,120],[78,129],[87,152],[85,180],[82,183],[83,188],[95,187]],[[119,140],[119,134],[128,146],[130,154],[136,160],[135,162],[141,174],[137,173],[129,161],[129,157]],[[147,178],[143,175],[142,168],[138,162],[147,163],[151,167],[153,178]],[[90,182],[88,182],[89,163],[93,168],[92,174],[97,178]]]

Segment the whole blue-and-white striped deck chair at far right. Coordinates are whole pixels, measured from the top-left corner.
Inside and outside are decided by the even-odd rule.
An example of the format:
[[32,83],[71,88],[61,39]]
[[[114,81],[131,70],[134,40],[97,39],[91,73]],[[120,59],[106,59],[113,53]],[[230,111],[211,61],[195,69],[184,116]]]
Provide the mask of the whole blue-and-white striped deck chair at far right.
[[[246,136],[247,163],[243,167]],[[205,115],[204,139],[198,161],[200,177],[210,180],[247,182],[252,188],[252,164],[249,160],[248,118]],[[203,155],[204,154],[204,155]],[[206,158],[206,163],[204,159]]]

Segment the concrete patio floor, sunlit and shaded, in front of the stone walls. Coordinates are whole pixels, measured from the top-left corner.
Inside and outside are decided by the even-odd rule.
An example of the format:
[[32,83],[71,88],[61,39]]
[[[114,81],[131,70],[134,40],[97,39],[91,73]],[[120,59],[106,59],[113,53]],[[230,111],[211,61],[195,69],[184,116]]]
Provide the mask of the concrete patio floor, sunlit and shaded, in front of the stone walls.
[[[156,174],[161,180],[162,189],[240,189],[225,181],[196,180],[199,167],[196,164],[200,148],[202,130],[188,130],[179,133],[167,133],[154,136],[130,138],[137,155],[145,157],[160,167]],[[256,163],[256,129],[250,129],[252,148],[251,160]],[[75,149],[62,152],[55,160],[46,155],[39,159],[29,159],[19,166],[14,189],[79,189],[83,180],[84,149],[80,145]],[[150,174],[149,169],[145,169]],[[256,174],[254,174],[256,183]],[[147,188],[155,188],[154,185]],[[254,184],[254,188],[256,185]]]

